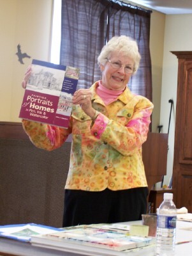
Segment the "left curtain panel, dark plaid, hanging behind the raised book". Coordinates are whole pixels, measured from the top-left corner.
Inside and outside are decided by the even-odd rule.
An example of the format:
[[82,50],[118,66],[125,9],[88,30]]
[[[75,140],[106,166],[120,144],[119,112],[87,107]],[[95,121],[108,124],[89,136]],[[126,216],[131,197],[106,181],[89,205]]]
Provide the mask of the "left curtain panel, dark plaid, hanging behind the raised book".
[[105,45],[107,15],[101,1],[62,1],[60,61],[80,68],[78,88],[89,88],[101,78],[97,57]]

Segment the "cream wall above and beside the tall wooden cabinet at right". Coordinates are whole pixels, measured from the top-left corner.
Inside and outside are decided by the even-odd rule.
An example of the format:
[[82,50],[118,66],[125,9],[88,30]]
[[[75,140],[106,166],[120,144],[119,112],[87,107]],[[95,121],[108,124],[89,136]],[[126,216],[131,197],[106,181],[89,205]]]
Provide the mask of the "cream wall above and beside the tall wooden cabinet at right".
[[170,51],[192,51],[191,24],[192,14],[166,15],[160,112],[160,122],[163,124],[163,132],[168,132],[168,120],[170,115],[169,99],[174,100],[174,108],[172,111],[168,136],[169,149],[165,184],[168,184],[173,170],[175,114],[177,103],[178,60]]

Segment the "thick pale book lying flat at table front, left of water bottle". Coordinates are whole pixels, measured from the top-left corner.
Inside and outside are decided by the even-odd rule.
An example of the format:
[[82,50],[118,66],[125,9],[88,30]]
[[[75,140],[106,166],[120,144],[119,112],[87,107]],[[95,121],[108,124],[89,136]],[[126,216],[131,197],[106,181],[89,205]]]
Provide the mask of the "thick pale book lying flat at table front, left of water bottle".
[[[97,250],[121,252],[156,243],[154,237],[131,236],[127,230],[112,230],[103,225],[78,225],[64,228],[61,232],[31,237],[31,244],[57,250]],[[87,248],[87,249],[86,249]]]

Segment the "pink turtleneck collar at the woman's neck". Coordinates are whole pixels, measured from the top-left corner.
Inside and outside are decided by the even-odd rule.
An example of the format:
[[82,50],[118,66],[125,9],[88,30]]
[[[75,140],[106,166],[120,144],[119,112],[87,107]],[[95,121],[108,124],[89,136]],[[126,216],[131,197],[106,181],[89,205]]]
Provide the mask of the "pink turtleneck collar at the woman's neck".
[[124,90],[121,90],[121,91],[109,90],[101,84],[101,80],[99,81],[99,86],[96,88],[96,93],[101,97],[105,105],[108,105],[113,101],[115,101],[123,91]]

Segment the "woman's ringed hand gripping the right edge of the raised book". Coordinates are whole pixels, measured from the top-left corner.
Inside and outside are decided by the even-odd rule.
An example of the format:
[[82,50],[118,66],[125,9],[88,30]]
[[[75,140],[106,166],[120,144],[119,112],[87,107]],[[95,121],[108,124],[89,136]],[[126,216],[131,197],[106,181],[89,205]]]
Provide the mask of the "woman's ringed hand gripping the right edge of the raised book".
[[91,104],[92,92],[90,89],[77,90],[73,95],[73,104],[80,104],[81,108],[91,118],[95,115],[95,109]]

